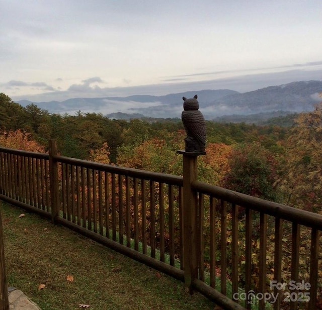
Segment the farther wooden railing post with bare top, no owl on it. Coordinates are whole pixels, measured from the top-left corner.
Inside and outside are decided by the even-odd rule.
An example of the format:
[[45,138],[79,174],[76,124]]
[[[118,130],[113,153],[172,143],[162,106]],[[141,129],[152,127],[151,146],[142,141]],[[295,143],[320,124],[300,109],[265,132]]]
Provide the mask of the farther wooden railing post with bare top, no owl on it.
[[51,221],[59,217],[59,190],[58,190],[58,164],[54,156],[57,155],[56,140],[49,140],[49,177],[50,177],[50,201]]

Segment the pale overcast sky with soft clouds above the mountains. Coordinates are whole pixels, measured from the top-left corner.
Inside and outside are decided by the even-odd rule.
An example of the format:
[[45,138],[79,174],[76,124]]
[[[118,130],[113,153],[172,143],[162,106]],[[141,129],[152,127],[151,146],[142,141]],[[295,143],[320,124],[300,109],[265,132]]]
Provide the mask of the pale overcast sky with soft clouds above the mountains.
[[321,0],[0,0],[0,92],[47,101],[321,79],[321,13]]

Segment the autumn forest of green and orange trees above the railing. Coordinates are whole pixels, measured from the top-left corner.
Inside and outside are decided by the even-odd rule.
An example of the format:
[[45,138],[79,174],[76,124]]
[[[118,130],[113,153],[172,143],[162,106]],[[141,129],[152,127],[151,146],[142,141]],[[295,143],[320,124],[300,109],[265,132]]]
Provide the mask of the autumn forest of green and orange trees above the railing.
[[[64,156],[182,174],[182,159],[176,154],[184,149],[180,119],[50,114],[33,104],[22,107],[4,93],[0,114],[1,146],[45,152],[48,139],[56,139]],[[291,126],[282,126],[283,121]],[[199,159],[199,179],[322,213],[321,121],[322,104],[265,126],[207,121],[207,155]]]

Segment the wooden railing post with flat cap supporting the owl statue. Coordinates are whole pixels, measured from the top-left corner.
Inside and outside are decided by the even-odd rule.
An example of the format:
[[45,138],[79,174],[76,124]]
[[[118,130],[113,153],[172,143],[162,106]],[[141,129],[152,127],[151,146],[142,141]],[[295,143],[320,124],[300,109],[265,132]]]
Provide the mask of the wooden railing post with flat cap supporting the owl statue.
[[197,193],[191,190],[191,182],[197,179],[199,155],[206,154],[178,151],[183,155],[183,264],[185,289],[193,293],[192,282],[198,277],[197,260]]

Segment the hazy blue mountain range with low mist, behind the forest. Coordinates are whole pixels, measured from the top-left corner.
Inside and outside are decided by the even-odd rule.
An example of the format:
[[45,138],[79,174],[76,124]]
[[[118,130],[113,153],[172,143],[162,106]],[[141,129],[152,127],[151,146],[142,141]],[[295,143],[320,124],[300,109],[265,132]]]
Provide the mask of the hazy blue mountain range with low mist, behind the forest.
[[183,111],[182,97],[198,95],[200,111],[205,119],[212,120],[223,116],[248,116],[311,111],[322,101],[322,81],[298,81],[269,86],[254,91],[240,93],[230,89],[195,90],[171,93],[163,96],[132,95],[127,97],[71,98],[64,101],[32,102],[17,101],[26,107],[35,104],[51,114],[76,112],[102,113],[109,118],[180,118]]

